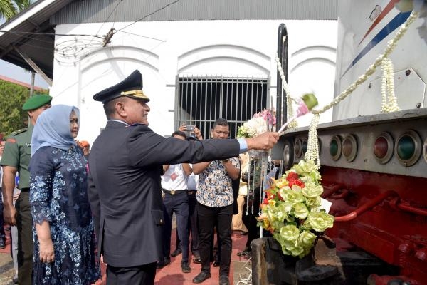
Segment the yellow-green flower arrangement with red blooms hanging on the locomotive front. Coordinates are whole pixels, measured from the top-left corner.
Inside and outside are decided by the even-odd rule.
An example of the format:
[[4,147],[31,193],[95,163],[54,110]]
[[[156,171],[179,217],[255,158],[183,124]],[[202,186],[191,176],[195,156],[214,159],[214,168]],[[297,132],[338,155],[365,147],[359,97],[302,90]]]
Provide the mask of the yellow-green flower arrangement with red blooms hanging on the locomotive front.
[[284,254],[305,257],[334,217],[320,208],[323,187],[312,160],[301,160],[266,191],[258,224],[273,234]]

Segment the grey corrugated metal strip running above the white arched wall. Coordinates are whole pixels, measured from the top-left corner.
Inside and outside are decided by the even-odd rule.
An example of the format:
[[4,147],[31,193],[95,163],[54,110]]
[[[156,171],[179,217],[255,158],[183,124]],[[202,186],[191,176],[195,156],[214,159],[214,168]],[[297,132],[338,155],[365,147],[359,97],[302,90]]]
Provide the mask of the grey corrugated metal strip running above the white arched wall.
[[51,24],[236,19],[336,20],[339,0],[90,0],[74,1]]

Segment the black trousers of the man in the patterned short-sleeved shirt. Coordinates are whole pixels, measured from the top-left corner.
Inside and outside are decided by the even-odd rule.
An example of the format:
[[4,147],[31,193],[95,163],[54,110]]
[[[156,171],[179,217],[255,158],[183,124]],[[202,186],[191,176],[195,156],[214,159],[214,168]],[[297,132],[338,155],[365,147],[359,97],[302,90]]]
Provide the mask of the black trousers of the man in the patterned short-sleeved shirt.
[[231,263],[231,221],[233,219],[233,204],[226,207],[206,207],[198,204],[199,213],[199,242],[201,271],[211,272],[209,262],[211,239],[214,235],[214,227],[221,239],[221,261],[219,275],[228,276]]

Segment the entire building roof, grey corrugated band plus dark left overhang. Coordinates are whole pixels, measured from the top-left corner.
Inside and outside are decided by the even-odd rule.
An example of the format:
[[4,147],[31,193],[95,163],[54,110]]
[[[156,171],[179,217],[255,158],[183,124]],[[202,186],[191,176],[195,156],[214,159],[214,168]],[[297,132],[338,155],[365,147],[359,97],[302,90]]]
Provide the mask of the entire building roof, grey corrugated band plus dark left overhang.
[[[0,25],[0,58],[53,76],[55,24],[212,19],[337,19],[339,0],[38,0]],[[38,34],[43,33],[43,34]]]

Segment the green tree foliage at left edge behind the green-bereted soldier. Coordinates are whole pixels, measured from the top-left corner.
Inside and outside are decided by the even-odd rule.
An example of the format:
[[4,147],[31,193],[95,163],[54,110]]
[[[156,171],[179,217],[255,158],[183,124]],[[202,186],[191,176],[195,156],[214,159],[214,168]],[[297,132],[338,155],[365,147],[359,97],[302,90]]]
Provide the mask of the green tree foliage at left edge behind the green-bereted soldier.
[[27,126],[28,113],[22,105],[29,96],[28,88],[0,80],[0,133],[9,135]]

